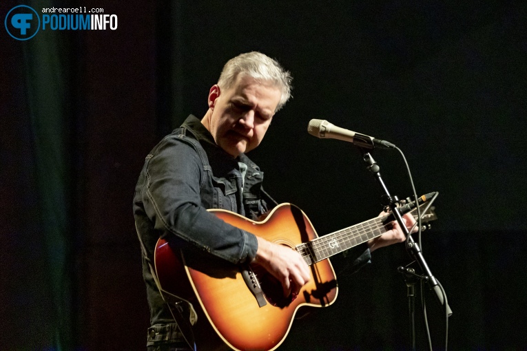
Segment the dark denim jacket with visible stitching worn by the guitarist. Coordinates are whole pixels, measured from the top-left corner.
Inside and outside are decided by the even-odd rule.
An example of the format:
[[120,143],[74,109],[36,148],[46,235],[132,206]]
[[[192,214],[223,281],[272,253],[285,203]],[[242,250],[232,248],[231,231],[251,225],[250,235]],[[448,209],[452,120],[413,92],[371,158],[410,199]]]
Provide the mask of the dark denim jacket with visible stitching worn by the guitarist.
[[[238,161],[247,164],[245,184]],[[189,116],[152,149],[136,185],[134,217],[147,259],[154,262],[159,237],[175,235],[233,264],[251,262],[258,249],[256,237],[206,209],[226,209],[256,219],[267,211],[262,180],[263,173],[254,162],[244,154],[232,158],[216,145],[198,118]],[[174,319],[159,295],[147,259],[143,257],[143,277],[151,323],[165,328]],[[169,339],[174,340],[174,335]]]

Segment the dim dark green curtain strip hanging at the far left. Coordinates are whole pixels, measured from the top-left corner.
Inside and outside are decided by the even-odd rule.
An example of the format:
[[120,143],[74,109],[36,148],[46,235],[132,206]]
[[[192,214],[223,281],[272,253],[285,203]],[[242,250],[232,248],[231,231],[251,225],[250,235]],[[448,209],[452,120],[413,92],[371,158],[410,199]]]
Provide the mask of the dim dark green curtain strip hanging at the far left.
[[[33,8],[53,6],[32,3]],[[49,31],[28,41],[24,50],[25,84],[30,115],[43,247],[44,274],[51,294],[51,333],[41,347],[72,350],[72,89],[68,36]],[[63,36],[63,37],[61,37]],[[71,36],[70,36],[71,37]]]

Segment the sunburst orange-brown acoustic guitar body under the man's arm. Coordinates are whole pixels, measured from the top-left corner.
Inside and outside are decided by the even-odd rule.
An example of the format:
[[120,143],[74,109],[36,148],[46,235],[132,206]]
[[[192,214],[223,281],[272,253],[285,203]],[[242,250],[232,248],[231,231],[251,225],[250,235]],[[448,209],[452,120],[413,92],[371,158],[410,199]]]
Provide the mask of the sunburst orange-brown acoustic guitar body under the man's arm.
[[[307,216],[291,204],[280,204],[262,222],[229,211],[210,211],[233,226],[291,248],[318,237]],[[177,248],[158,240],[155,266],[163,292],[194,305],[198,312],[196,330],[214,330],[211,334],[205,331],[207,335],[198,331],[198,350],[204,338],[209,341],[205,350],[214,349],[212,339],[235,350],[274,350],[287,336],[300,306],[329,306],[337,297],[329,259],[311,264],[311,280],[295,300],[282,296],[281,284],[266,270],[251,265],[265,297],[265,304],[260,306],[238,266],[204,264],[203,257],[188,256],[183,254],[182,259]]]

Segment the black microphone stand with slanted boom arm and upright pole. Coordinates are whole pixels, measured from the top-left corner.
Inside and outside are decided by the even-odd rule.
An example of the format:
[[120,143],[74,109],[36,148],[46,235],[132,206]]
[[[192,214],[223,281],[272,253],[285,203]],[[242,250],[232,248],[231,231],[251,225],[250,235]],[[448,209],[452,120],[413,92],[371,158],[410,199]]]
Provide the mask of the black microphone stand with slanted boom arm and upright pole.
[[[364,162],[366,162],[367,167],[371,173],[375,176],[375,179],[379,183],[382,191],[384,192],[381,195],[381,204],[383,206],[388,206],[391,209],[391,213],[393,213],[393,216],[395,217],[395,220],[397,220],[397,223],[399,223],[400,228],[402,229],[404,235],[406,235],[406,252],[409,253],[409,255],[413,258],[414,261],[419,264],[421,270],[424,272],[423,276],[416,275],[412,268],[402,268],[398,269],[401,273],[404,273],[405,276],[405,283],[408,289],[408,299],[409,299],[409,315],[410,315],[410,328],[411,328],[411,338],[412,338],[412,350],[415,350],[415,317],[414,317],[414,310],[415,310],[415,278],[423,279],[428,283],[428,286],[434,290],[435,296],[437,297],[437,301],[439,301],[441,306],[445,306],[445,299],[443,292],[439,286],[439,283],[437,282],[437,279],[433,276],[430,268],[428,268],[428,264],[426,264],[426,261],[424,260],[424,257],[421,252],[421,248],[419,245],[413,240],[412,235],[409,233],[408,228],[406,228],[406,225],[404,224],[404,220],[402,219],[402,215],[399,211],[399,208],[397,207],[397,197],[393,197],[390,195],[390,192],[388,191],[388,188],[386,188],[386,184],[384,184],[384,181],[382,180],[382,177],[380,175],[380,167],[373,160],[373,157],[371,154],[367,151],[364,151],[364,149],[360,148],[360,151],[363,153],[362,159]],[[415,199],[417,201],[417,199]],[[417,204],[418,206],[418,204]],[[445,306],[446,312],[448,317],[452,315],[452,310],[448,306],[448,303]]]

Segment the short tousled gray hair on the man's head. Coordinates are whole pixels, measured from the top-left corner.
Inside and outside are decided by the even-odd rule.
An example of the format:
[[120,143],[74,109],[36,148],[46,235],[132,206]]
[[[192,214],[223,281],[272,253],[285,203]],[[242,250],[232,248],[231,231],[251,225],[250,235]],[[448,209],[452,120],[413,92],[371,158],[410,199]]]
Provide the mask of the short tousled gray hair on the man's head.
[[222,89],[231,88],[236,82],[238,74],[278,87],[281,94],[276,111],[281,109],[291,97],[291,81],[293,77],[276,60],[265,54],[254,51],[231,58],[223,66],[218,85]]

